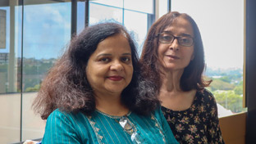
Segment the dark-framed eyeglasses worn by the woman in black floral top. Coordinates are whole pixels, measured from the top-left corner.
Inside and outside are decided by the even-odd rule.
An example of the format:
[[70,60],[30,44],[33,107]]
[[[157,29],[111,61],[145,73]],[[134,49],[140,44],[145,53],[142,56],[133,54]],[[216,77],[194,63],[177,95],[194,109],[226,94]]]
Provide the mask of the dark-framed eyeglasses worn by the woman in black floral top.
[[161,43],[173,43],[174,39],[177,39],[178,43],[181,46],[190,47],[194,44],[194,38],[189,36],[176,37],[170,33],[162,32],[158,33],[156,37],[158,38],[158,41]]

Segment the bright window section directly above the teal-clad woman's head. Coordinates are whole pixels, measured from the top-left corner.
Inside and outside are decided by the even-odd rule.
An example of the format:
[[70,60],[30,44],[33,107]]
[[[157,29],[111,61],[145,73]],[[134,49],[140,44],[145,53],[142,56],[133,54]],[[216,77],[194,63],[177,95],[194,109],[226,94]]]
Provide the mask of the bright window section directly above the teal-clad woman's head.
[[[125,25],[126,28],[133,33],[136,42],[138,42],[138,52],[140,54],[144,38],[147,34],[147,30],[151,26],[152,18],[154,16],[151,14],[151,12],[153,12],[153,1],[144,2],[143,5],[141,3],[142,1],[137,1],[136,5],[138,5],[138,7],[135,7],[135,1],[124,1],[124,7],[132,10],[123,9],[122,7],[117,8],[107,1],[104,1],[107,3],[102,1],[99,2],[101,4],[98,4],[98,1],[89,2],[89,25],[105,21],[112,21]],[[136,8],[138,10],[136,10]]]

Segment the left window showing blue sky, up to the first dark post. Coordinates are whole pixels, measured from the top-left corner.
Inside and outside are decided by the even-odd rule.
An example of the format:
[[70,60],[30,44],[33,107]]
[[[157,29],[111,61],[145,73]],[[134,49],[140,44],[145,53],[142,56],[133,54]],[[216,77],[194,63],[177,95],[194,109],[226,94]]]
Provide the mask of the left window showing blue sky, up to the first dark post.
[[71,38],[71,2],[25,0],[22,10],[18,0],[5,0],[0,14],[0,23],[5,23],[0,29],[5,32],[0,48],[0,143],[43,137],[45,122],[34,115],[31,104]]

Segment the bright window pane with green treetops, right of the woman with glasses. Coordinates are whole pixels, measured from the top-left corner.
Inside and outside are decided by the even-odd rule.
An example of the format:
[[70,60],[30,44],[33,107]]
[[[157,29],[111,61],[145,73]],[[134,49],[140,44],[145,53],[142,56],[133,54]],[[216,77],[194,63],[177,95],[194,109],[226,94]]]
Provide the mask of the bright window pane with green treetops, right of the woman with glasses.
[[188,13],[199,25],[207,63],[205,74],[213,79],[209,89],[217,100],[219,116],[245,111],[244,1],[172,0],[171,10]]

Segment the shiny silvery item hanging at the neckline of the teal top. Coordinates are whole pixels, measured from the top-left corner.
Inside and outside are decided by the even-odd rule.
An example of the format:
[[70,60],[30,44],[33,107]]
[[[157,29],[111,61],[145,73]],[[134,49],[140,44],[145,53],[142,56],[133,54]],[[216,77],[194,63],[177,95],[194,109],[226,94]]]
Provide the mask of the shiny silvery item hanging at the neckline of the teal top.
[[135,124],[130,122],[130,119],[128,119],[126,116],[122,116],[119,120],[119,124],[126,131],[126,133],[130,134],[131,142],[135,144],[142,143],[140,141],[141,138],[139,137],[139,133],[137,133],[137,128],[135,127]]

